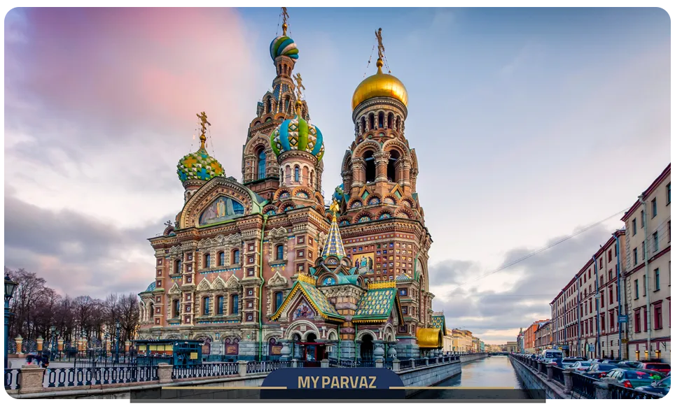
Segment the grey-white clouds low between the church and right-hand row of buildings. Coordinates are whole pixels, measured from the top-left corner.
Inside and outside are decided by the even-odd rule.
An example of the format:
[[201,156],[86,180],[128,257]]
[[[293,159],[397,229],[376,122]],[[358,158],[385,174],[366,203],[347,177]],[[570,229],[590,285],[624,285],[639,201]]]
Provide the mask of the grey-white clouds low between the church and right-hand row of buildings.
[[[486,342],[515,340],[515,335],[503,331],[527,328],[538,319],[550,318],[548,303],[610,236],[611,230],[606,226],[593,227],[494,275],[487,275],[494,269],[482,268],[478,262],[441,261],[429,268],[431,291],[436,294],[433,308],[443,310],[449,327],[469,329]],[[554,238],[546,245],[566,237]],[[500,267],[536,250],[524,247],[509,250]],[[513,277],[513,286],[495,284],[492,277],[496,276]],[[482,279],[477,280],[479,277]],[[466,284],[443,294],[434,290],[462,282]],[[508,338],[500,339],[503,337]]]

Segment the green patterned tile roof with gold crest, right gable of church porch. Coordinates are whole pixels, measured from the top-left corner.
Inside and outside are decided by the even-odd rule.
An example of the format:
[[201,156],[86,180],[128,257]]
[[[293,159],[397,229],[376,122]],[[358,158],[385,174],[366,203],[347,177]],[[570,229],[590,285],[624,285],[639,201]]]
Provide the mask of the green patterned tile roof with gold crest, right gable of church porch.
[[398,301],[396,282],[371,282],[368,291],[356,304],[353,322],[384,322],[389,319],[391,310],[396,307],[401,317],[401,302]]

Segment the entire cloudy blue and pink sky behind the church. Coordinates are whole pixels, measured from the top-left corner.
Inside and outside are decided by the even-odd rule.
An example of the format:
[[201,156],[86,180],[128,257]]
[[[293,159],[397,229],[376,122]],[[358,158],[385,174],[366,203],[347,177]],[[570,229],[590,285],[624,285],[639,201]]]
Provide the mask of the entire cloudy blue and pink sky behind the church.
[[[434,310],[487,343],[550,317],[560,289],[671,161],[670,7],[288,7],[326,194],[354,140],[375,30],[408,89],[405,136],[433,245]],[[8,7],[2,260],[62,294],[153,281],[147,238],[182,208],[176,164],[241,180],[270,89],[278,7]],[[603,221],[517,265],[520,257]],[[480,278],[480,279],[478,279]]]

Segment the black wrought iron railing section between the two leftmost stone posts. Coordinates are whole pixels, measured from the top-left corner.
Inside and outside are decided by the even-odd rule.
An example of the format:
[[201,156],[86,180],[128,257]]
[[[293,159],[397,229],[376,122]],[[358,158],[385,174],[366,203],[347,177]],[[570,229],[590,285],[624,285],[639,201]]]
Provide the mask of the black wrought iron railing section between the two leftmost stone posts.
[[159,380],[156,366],[48,368],[45,372],[45,379],[47,387],[90,386]]

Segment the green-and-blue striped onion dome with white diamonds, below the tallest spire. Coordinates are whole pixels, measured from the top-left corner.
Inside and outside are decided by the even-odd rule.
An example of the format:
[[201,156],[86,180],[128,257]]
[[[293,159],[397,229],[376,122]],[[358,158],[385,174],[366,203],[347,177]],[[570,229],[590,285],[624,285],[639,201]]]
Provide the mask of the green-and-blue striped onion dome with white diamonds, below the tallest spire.
[[319,128],[302,119],[301,106],[300,100],[295,101],[295,117],[281,122],[279,127],[272,131],[270,136],[272,150],[277,157],[291,150],[309,152],[321,161],[324,152],[323,135]]

